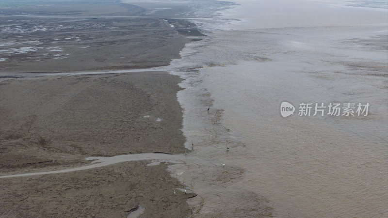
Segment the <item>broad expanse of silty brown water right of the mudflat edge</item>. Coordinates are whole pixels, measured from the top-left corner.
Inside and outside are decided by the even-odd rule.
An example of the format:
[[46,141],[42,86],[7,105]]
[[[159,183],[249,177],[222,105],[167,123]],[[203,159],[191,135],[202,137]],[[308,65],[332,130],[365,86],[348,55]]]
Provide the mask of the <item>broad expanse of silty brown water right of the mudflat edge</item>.
[[[183,132],[199,160],[171,170],[200,196],[197,216],[387,216],[387,11],[298,1],[287,18],[260,2],[193,19],[209,37],[168,67],[186,79]],[[371,106],[283,118],[283,101]]]

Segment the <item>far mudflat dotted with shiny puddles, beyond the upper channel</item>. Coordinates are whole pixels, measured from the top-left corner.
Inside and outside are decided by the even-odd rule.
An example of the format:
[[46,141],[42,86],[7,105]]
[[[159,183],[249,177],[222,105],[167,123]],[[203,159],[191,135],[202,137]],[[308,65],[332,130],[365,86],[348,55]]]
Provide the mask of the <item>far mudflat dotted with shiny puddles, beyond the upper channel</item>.
[[[39,73],[168,65],[202,36],[194,24],[119,2],[0,3],[0,72]],[[179,8],[177,9],[179,10]]]

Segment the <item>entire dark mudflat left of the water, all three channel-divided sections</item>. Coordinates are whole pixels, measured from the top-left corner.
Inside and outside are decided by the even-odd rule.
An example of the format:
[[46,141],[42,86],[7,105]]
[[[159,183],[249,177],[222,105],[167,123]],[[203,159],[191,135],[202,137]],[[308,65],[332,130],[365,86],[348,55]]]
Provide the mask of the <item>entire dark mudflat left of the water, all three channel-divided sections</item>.
[[[178,76],[63,74],[168,65],[202,34],[163,13],[118,1],[1,2],[0,175],[184,153]],[[149,163],[2,178],[0,217],[188,216],[196,194],[180,190],[169,164]]]

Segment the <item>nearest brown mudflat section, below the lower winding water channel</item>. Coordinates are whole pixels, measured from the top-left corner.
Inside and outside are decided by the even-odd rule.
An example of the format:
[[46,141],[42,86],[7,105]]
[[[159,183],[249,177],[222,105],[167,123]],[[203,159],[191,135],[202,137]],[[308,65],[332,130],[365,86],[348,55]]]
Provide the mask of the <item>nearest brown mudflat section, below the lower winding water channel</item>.
[[177,189],[166,164],[149,162],[2,179],[0,217],[127,217],[138,205],[146,217],[187,216],[195,194]]

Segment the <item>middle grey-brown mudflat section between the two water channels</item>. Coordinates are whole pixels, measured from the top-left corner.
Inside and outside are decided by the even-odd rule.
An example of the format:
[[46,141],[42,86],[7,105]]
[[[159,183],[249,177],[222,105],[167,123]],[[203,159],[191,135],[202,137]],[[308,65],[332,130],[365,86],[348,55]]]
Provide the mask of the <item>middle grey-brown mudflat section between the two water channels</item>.
[[1,172],[183,153],[178,81],[164,72],[3,81]]

